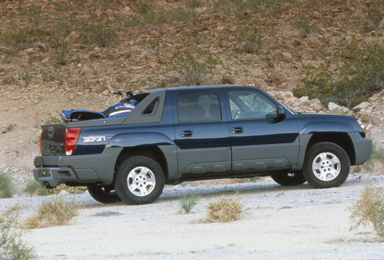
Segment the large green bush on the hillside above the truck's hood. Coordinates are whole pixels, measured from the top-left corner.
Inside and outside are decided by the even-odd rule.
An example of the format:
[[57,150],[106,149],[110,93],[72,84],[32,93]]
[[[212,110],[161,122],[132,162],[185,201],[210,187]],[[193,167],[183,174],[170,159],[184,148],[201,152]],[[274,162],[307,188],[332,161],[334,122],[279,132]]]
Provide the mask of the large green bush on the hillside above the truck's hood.
[[353,108],[384,89],[383,44],[367,45],[365,49],[355,47],[345,56],[348,58],[341,57],[343,65],[334,74],[324,65],[308,71],[302,79],[306,86],[297,86],[294,95]]

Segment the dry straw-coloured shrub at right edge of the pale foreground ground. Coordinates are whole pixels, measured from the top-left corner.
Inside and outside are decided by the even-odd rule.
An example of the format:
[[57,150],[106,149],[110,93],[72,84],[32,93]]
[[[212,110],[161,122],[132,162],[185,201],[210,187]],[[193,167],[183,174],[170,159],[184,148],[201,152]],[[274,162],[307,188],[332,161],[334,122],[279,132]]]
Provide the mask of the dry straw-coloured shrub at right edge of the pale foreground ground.
[[372,223],[379,236],[384,236],[384,190],[365,186],[361,198],[350,207],[351,229]]

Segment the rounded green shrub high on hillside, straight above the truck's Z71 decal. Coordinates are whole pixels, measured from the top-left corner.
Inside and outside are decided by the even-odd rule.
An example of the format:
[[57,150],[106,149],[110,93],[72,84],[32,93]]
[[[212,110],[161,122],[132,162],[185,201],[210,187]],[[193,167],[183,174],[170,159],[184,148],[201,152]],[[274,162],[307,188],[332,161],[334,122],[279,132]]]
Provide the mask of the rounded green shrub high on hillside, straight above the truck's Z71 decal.
[[82,40],[84,44],[109,47],[117,40],[117,34],[115,28],[108,23],[97,22],[83,28]]

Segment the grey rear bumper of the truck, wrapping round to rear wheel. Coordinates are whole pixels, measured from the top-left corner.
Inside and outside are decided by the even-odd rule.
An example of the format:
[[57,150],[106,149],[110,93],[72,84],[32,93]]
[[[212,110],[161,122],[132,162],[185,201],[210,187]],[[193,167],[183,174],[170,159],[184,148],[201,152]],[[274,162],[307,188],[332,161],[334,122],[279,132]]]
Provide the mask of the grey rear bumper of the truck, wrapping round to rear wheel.
[[111,184],[121,150],[108,148],[102,154],[39,156],[33,163],[33,177],[40,185],[53,188],[66,182]]

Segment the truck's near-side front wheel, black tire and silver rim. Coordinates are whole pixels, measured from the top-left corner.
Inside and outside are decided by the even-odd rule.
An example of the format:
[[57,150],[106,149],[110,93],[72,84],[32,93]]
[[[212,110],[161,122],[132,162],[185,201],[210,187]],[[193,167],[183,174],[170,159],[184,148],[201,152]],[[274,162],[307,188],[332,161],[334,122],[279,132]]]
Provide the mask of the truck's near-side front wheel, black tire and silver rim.
[[306,153],[303,176],[314,188],[332,188],[342,185],[349,175],[351,163],[339,145],[317,143]]

